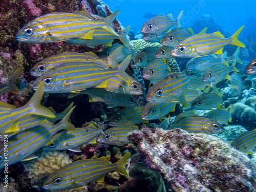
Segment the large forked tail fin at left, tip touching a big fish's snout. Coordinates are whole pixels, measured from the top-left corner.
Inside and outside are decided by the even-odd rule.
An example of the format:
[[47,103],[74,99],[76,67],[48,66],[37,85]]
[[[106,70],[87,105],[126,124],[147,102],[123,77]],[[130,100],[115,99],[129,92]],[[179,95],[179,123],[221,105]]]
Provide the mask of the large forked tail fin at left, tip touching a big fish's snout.
[[42,99],[42,96],[44,95],[44,87],[45,87],[44,82],[41,82],[36,92],[34,93],[32,98],[29,100],[29,102],[25,106],[33,108],[34,115],[41,115],[41,116],[55,118],[56,116],[51,110],[41,105],[41,99]]

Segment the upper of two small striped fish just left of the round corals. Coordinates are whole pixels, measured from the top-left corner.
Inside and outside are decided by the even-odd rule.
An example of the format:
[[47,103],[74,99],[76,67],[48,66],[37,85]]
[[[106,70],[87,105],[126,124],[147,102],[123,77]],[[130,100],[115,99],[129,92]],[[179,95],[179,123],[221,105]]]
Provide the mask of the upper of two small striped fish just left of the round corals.
[[223,101],[219,89],[212,92],[203,93],[198,96],[191,104],[192,109],[196,110],[211,110],[212,108],[221,108]]

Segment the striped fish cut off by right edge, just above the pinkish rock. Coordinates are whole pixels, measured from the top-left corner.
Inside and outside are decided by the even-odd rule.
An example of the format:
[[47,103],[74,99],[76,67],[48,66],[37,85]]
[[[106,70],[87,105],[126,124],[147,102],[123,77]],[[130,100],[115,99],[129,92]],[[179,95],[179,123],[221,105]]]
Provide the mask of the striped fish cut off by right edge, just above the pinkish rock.
[[241,152],[247,154],[254,154],[253,150],[255,150],[256,146],[256,129],[250,132],[242,133],[233,140],[231,145],[236,150],[239,150]]

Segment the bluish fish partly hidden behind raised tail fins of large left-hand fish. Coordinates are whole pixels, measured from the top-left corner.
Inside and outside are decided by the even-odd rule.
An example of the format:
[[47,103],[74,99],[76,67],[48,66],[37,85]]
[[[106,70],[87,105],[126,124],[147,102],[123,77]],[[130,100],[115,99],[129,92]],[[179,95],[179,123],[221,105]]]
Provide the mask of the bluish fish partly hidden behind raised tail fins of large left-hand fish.
[[122,47],[122,50],[121,50],[121,53],[116,58],[116,62],[118,63],[122,62],[129,55],[132,55],[132,58],[135,61],[136,52],[138,51],[140,46],[137,46],[131,51],[127,49],[125,46],[122,46],[120,44],[113,44],[112,47],[106,47],[105,49],[103,49],[99,54],[99,58],[104,60],[106,57],[109,57],[119,47]]

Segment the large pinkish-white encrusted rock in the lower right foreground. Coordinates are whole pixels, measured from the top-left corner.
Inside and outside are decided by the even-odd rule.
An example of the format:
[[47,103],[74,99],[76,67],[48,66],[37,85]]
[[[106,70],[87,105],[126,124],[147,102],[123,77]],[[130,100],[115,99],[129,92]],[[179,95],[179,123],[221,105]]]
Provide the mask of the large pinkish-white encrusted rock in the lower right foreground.
[[128,137],[175,191],[256,190],[256,164],[220,138],[157,128]]

